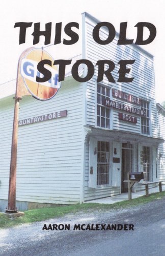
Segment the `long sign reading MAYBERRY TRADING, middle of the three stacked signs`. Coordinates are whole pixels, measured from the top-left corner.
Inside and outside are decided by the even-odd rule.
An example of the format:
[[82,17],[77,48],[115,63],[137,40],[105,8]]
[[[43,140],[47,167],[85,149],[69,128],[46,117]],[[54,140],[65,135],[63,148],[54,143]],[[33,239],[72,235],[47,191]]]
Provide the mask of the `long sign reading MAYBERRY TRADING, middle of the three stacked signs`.
[[139,116],[146,116],[146,111],[144,111],[142,109],[137,109],[137,108],[134,108],[134,106],[130,106],[130,105],[120,103],[117,101],[113,101],[110,99],[105,99],[104,101],[102,101],[102,104],[104,106],[108,106],[109,108],[126,111],[126,112],[129,112],[129,113],[132,113],[135,115],[139,115]]

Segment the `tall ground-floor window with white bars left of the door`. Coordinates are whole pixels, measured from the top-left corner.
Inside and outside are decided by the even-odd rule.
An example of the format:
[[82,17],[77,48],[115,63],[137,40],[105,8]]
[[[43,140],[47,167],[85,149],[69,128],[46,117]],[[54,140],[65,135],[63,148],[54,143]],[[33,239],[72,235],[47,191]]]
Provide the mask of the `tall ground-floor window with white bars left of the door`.
[[97,185],[109,185],[109,142],[97,142]]

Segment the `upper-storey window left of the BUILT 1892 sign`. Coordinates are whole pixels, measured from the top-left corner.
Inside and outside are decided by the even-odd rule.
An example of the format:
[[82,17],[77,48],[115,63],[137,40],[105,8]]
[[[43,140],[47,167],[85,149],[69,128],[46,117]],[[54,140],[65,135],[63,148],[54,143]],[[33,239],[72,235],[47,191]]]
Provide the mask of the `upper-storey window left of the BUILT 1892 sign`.
[[97,126],[110,128],[110,110],[103,106],[105,98],[110,99],[110,89],[97,84]]

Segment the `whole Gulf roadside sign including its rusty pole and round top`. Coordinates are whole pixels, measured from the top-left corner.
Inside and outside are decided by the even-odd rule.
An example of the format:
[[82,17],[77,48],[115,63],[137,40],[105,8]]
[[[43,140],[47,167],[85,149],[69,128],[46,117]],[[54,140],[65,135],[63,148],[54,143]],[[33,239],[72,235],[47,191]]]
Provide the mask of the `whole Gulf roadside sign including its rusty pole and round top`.
[[[44,56],[43,56],[44,55]],[[19,115],[19,100],[22,96],[33,95],[37,99],[47,100],[52,98],[58,92],[61,84],[58,83],[58,80],[54,80],[54,84],[43,86],[36,82],[36,77],[34,76],[34,81],[31,81],[32,74],[29,74],[27,71],[27,65],[30,61],[39,62],[42,60],[42,57],[53,60],[52,57],[43,51],[43,49],[34,49],[29,48],[22,52],[17,69],[17,83],[16,83],[16,93],[15,93],[15,107],[14,107],[14,119],[13,119],[13,134],[12,134],[12,146],[11,146],[11,160],[10,160],[10,176],[9,176],[9,194],[8,194],[8,206],[5,210],[6,214],[15,214],[18,216],[16,208],[16,167],[17,167],[17,141],[18,141],[18,115]],[[33,64],[33,63],[32,63]],[[34,64],[32,65],[34,66]],[[32,67],[31,66],[31,67]],[[21,70],[22,67],[22,70]],[[23,74],[21,74],[21,72]],[[53,68],[54,75],[57,77],[58,70],[54,66]],[[33,83],[32,83],[33,82]],[[26,86],[25,86],[26,84]],[[37,95],[34,94],[37,88]],[[33,92],[34,91],[34,92]],[[38,92],[40,97],[38,96]],[[19,215],[20,216],[20,215]]]

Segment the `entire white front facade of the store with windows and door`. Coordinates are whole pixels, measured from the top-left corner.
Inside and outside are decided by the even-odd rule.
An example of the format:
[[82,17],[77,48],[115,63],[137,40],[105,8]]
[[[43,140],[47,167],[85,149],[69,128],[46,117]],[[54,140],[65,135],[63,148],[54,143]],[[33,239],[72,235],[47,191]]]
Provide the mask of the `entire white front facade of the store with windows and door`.
[[[157,112],[153,56],[135,45],[117,45],[118,37],[108,45],[91,42],[97,20],[88,14],[86,19],[86,58],[135,59],[127,77],[130,83],[109,83],[104,77],[87,84],[87,125],[91,127],[86,148],[89,152],[86,165],[85,199],[112,196],[127,191],[127,172],[144,172],[145,181],[159,178],[157,152],[163,142],[157,134]],[[102,29],[100,37],[107,38]],[[118,70],[112,72],[117,80]],[[97,151],[97,154],[96,154]],[[97,172],[92,171],[95,166]],[[89,176],[88,176],[89,174]],[[134,190],[142,189],[135,185]]]

